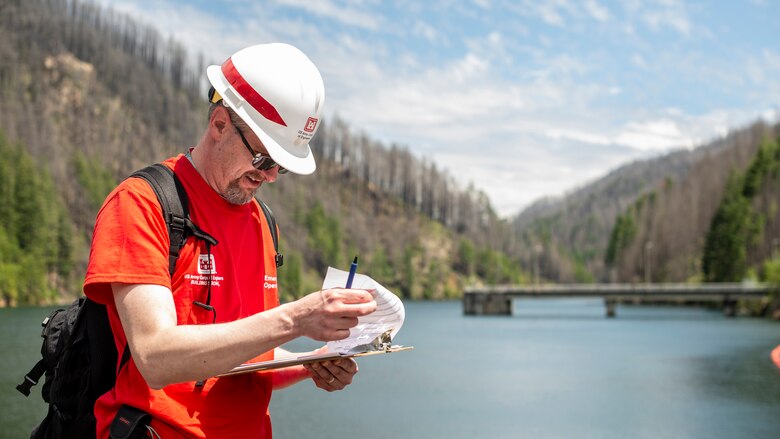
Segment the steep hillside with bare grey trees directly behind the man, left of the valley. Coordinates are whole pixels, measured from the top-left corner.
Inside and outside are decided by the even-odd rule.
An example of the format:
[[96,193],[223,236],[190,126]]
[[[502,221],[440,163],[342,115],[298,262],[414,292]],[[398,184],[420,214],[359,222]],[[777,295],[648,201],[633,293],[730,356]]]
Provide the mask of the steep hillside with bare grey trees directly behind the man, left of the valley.
[[[67,300],[103,198],[197,141],[203,67],[222,60],[77,0],[2,0],[0,34],[0,293],[6,304]],[[285,175],[259,194],[282,231],[284,299],[355,254],[361,271],[410,298],[524,280],[508,256],[511,228],[483,193],[346,121],[323,121],[312,147],[315,175]]]

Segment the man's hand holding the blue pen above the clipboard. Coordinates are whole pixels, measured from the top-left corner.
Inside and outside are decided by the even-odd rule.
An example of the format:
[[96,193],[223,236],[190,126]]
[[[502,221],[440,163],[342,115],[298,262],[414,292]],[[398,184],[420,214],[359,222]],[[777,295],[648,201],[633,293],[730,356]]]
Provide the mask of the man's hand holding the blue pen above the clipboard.
[[317,291],[288,305],[293,307],[293,325],[300,335],[318,341],[349,337],[349,329],[357,326],[358,317],[376,310],[371,293],[343,288]]

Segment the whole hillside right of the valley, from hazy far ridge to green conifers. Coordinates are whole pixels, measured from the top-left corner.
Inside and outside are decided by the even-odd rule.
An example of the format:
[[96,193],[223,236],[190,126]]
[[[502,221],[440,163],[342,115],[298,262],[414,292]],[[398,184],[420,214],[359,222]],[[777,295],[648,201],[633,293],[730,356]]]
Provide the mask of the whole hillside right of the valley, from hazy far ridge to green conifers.
[[778,138],[780,124],[757,122],[539,203],[515,220],[525,264],[563,282],[767,279],[780,243]]

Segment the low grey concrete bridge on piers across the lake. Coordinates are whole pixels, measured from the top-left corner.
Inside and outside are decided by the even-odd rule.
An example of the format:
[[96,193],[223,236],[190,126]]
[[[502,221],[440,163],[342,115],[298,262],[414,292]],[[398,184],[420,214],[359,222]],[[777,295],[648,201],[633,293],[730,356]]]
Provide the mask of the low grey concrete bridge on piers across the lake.
[[719,303],[726,315],[733,316],[737,301],[766,299],[776,289],[757,283],[493,285],[467,288],[463,294],[463,314],[511,315],[512,301],[519,298],[601,297],[607,317],[615,316],[618,303],[661,301]]

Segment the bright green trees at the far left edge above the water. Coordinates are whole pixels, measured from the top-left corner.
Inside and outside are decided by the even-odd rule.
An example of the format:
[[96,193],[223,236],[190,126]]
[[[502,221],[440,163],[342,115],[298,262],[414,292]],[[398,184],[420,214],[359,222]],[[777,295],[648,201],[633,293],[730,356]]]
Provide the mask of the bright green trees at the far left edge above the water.
[[53,300],[73,278],[73,225],[45,168],[0,133],[0,295],[8,304]]

